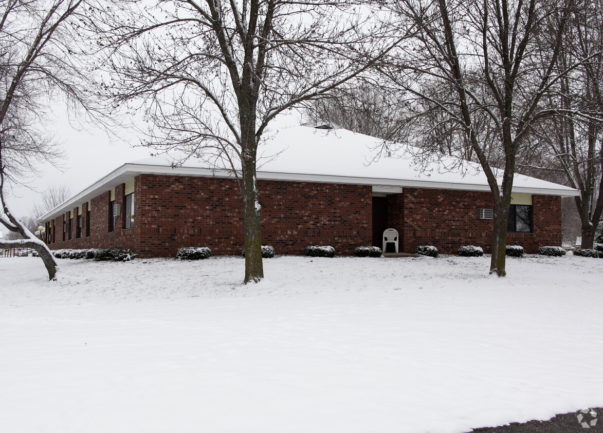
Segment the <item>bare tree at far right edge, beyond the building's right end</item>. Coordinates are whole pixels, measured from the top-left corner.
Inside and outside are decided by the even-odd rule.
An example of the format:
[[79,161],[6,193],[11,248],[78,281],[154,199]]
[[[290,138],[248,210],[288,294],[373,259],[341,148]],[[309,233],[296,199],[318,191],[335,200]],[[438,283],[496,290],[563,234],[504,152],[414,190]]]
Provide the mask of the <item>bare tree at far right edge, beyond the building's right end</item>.
[[[593,247],[603,212],[602,14],[601,0],[577,2],[556,67],[557,73],[569,72],[549,88],[546,98],[558,115],[538,124],[538,139],[547,145],[540,159],[551,161],[563,182],[580,191],[575,206],[583,248]],[[544,32],[541,46],[546,50],[550,45]]]

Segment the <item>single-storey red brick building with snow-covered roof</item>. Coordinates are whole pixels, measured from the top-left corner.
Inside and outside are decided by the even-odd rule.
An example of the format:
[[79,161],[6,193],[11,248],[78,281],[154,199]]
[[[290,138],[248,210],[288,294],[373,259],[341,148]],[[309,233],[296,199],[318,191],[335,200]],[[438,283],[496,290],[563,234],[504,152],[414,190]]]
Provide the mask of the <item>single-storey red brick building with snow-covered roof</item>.
[[[417,171],[412,158],[389,156],[380,140],[344,129],[298,126],[268,136],[257,178],[262,243],[277,254],[315,244],[352,254],[359,245],[380,247],[388,227],[404,252],[424,244],[443,253],[461,245],[490,251],[492,198],[475,165],[461,172],[434,162]],[[513,190],[508,244],[527,253],[561,245],[561,197],[578,192],[519,175]],[[124,164],[41,221],[52,249],[124,247],[139,257],[173,257],[181,247],[243,248],[232,171],[197,160],[176,168],[166,158]]]

